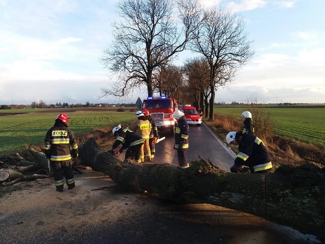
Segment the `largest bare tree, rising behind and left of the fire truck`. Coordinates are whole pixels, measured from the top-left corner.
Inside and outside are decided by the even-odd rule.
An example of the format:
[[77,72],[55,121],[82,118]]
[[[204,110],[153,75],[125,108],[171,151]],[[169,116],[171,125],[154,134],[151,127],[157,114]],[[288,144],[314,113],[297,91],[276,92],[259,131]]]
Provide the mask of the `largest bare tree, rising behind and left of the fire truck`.
[[117,4],[121,21],[113,24],[114,39],[101,62],[118,75],[118,81],[102,88],[102,97],[122,97],[143,84],[148,96],[153,95],[154,71],[183,51],[199,26],[202,9],[196,0],[177,2],[178,19],[174,5],[172,0],[125,0]]

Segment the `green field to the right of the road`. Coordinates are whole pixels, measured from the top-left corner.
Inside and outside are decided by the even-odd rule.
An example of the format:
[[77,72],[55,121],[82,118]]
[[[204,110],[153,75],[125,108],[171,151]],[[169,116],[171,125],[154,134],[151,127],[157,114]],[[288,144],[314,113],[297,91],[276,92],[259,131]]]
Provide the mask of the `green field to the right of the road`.
[[[246,109],[247,107],[243,106],[217,106],[215,112],[241,119],[240,115]],[[325,145],[325,108],[323,106],[270,106],[264,109],[269,112],[276,134],[318,146]],[[254,120],[254,114],[252,117]]]

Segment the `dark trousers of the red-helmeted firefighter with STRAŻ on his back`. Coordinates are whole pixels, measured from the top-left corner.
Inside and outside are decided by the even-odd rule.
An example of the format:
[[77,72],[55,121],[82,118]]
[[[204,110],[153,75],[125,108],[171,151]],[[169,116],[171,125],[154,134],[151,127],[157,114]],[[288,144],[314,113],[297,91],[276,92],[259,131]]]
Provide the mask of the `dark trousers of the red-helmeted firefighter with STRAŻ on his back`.
[[54,186],[56,187],[57,191],[59,192],[63,191],[63,185],[64,185],[63,173],[64,176],[66,177],[66,183],[68,185],[68,189],[72,189],[75,187],[75,178],[73,175],[72,162],[71,163],[55,162],[55,163],[51,163],[51,166],[53,168]]

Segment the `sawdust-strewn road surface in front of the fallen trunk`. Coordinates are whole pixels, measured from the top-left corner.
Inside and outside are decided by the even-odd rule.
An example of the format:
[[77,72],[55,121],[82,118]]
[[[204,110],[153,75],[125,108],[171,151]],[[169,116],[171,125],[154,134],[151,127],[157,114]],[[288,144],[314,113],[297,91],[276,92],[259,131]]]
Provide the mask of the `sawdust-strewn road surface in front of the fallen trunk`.
[[321,243],[289,227],[209,204],[125,192],[107,175],[75,173],[0,188],[0,243]]

